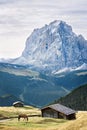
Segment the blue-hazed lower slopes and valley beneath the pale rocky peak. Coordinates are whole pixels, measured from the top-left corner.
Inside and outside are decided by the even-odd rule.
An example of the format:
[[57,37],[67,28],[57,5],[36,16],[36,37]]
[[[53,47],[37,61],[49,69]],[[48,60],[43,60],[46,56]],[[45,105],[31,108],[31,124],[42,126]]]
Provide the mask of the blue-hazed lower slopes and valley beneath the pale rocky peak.
[[14,100],[5,95],[13,95],[25,104],[42,107],[86,83],[87,70],[47,75],[26,66],[0,64],[0,96],[5,97],[4,104],[11,105]]

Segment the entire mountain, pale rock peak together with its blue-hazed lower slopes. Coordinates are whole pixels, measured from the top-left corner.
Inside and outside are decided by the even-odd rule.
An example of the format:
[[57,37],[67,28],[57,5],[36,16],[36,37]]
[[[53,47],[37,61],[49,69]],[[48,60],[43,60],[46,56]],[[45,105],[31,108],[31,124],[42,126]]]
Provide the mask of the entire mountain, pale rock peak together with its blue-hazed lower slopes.
[[0,60],[0,96],[44,106],[87,84],[87,41],[71,26],[54,21],[35,29],[22,55]]

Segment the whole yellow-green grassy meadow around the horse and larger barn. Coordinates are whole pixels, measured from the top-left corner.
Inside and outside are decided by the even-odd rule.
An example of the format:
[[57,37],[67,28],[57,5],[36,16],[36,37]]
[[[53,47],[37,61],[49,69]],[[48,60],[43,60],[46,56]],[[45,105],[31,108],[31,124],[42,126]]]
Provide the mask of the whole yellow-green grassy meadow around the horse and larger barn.
[[[18,122],[20,113],[29,115],[29,121],[22,118]],[[36,115],[36,116],[34,116]],[[38,108],[25,106],[24,108],[0,107],[1,130],[87,130],[87,111],[79,111],[76,120],[42,118]],[[8,118],[8,119],[6,119]],[[3,119],[3,120],[2,120]]]

